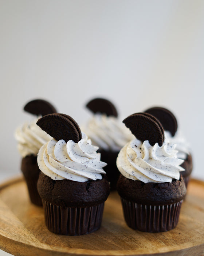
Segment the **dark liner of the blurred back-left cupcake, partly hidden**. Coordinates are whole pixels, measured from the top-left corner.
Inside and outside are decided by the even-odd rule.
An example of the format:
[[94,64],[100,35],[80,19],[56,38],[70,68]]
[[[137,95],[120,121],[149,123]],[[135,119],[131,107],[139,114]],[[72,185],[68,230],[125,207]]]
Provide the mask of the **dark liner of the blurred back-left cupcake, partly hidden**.
[[40,198],[40,195],[38,193],[38,189],[37,189],[37,182],[38,179],[29,179],[24,177],[26,180],[26,185],[28,188],[28,193],[30,196],[30,200],[33,204],[36,204],[37,206],[42,206],[42,199]]

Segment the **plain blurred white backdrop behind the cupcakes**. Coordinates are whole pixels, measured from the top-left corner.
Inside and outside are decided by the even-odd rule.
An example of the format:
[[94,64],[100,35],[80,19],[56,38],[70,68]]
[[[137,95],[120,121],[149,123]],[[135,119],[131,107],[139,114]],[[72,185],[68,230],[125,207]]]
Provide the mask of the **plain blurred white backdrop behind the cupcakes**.
[[35,98],[79,124],[93,97],[119,118],[172,110],[204,180],[202,0],[0,0],[1,177],[20,174],[15,128]]

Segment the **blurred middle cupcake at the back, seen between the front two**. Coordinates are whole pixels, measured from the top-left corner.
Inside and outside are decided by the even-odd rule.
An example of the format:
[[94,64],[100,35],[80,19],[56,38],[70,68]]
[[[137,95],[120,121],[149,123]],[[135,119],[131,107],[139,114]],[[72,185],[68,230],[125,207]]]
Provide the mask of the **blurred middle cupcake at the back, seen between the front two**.
[[119,121],[118,113],[109,100],[95,98],[86,107],[93,112],[92,118],[82,125],[82,131],[99,147],[101,160],[107,163],[104,170],[110,181],[111,190],[116,189],[119,172],[116,158],[122,146],[133,138],[132,133]]

